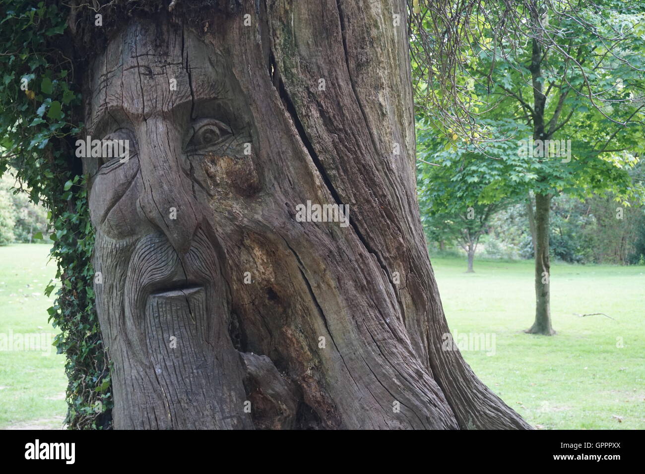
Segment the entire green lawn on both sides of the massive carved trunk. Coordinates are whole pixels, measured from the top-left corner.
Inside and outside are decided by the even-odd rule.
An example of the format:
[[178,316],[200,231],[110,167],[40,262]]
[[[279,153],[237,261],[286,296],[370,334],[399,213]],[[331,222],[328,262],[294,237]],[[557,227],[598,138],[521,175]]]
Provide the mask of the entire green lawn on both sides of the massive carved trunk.
[[[63,356],[43,346],[56,332],[43,295],[55,273],[46,264],[49,247],[0,247],[0,337],[45,333],[37,350],[0,350],[0,428],[60,428],[66,412]],[[553,264],[557,335],[544,337],[522,332],[535,311],[532,262],[480,259],[476,273],[464,273],[462,259],[432,264],[457,344],[459,335],[474,334],[494,342],[466,347],[464,357],[533,426],[645,428],[644,266]]]

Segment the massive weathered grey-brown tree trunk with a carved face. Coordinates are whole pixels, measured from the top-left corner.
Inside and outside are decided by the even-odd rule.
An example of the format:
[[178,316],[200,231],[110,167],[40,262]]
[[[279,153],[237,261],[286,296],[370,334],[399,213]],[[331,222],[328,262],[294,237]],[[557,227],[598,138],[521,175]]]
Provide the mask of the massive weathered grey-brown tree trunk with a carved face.
[[405,2],[185,3],[84,83],[115,428],[530,428],[446,346]]

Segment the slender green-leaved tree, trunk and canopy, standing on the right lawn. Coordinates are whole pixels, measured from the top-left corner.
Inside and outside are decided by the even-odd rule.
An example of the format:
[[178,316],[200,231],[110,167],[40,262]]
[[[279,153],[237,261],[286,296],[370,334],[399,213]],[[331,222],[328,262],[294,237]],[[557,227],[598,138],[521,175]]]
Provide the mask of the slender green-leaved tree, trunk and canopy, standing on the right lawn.
[[[417,18],[417,95],[439,110],[425,112],[439,130],[481,142],[482,135],[490,136],[481,117],[502,106],[530,130],[515,133],[516,143],[571,140],[571,161],[530,146],[526,154],[533,160],[522,171],[532,177],[527,191],[533,195],[528,215],[536,311],[530,333],[554,333],[548,231],[553,195],[633,195],[628,169],[642,155],[644,11],[642,2],[526,0],[513,8],[457,3],[443,13],[430,4]],[[452,59],[434,66],[428,58],[437,55]]]

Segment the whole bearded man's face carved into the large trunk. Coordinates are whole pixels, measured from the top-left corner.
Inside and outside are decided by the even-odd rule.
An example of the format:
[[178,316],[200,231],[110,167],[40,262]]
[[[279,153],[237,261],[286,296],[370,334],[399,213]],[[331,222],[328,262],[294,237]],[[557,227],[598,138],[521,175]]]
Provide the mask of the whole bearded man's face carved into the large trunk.
[[[241,371],[217,235],[260,189],[244,94],[212,46],[145,23],[118,35],[90,75],[88,135],[129,152],[84,158],[99,321],[115,397],[133,398],[115,399],[115,427],[146,428],[134,404],[159,428],[194,428],[181,420],[195,411],[244,428],[241,383],[217,383]],[[168,397],[186,400],[182,413],[166,410]]]

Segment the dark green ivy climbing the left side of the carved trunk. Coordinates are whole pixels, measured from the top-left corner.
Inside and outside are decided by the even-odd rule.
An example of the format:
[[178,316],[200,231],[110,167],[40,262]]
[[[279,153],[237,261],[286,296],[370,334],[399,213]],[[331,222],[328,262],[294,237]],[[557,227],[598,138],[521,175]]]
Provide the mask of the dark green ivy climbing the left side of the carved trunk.
[[[0,175],[12,165],[32,202],[48,208],[57,261],[50,321],[67,357],[70,428],[107,428],[112,396],[108,360],[94,310],[90,257],[94,235],[73,139],[83,124],[72,63],[52,39],[66,29],[68,7],[15,0],[0,5]],[[99,403],[100,402],[100,403]]]

